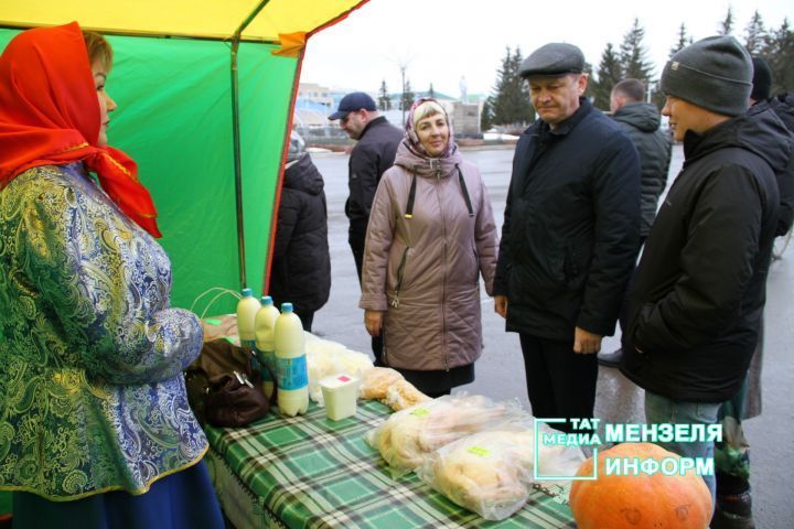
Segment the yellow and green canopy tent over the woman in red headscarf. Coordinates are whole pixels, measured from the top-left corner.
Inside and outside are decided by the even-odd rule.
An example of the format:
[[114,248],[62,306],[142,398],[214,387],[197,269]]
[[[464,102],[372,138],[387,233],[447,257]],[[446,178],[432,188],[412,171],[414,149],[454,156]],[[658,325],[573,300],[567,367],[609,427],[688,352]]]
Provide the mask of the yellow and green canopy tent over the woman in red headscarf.
[[[4,0],[19,31],[108,35],[109,138],[139,165],[173,264],[172,302],[267,283],[281,165],[307,39],[366,0]],[[230,312],[230,301],[213,311]]]

